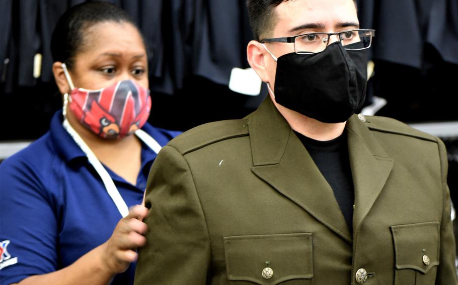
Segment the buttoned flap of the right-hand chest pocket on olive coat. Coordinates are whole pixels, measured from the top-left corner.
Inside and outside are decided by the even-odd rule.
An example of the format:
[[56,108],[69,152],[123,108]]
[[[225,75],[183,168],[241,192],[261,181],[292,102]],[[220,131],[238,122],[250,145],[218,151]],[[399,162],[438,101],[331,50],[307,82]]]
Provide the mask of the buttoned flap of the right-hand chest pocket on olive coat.
[[439,222],[391,226],[397,269],[427,273],[439,264]]

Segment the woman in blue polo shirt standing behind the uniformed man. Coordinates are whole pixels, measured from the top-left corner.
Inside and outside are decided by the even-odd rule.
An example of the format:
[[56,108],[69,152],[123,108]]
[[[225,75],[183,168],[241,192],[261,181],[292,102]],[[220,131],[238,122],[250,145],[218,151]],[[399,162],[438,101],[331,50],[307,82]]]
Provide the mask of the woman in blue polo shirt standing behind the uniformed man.
[[122,10],[71,8],[51,51],[63,112],[0,165],[0,282],[132,283],[146,209],[128,206],[141,204],[152,161],[178,133],[146,123],[146,50]]

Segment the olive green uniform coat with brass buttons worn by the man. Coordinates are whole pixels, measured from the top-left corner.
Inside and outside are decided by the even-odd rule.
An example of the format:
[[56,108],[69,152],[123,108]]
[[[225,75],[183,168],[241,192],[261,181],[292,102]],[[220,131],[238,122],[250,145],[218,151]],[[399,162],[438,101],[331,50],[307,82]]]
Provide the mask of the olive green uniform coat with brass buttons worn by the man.
[[354,115],[346,132],[353,234],[270,98],[170,141],[147,184],[135,284],[348,285],[360,268],[364,284],[456,284],[441,141],[382,117]]

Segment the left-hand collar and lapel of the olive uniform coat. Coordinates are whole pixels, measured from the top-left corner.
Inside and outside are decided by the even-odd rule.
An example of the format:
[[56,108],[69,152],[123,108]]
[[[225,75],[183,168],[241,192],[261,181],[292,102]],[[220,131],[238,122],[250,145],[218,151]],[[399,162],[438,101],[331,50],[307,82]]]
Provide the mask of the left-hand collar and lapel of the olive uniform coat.
[[250,116],[249,131],[253,173],[351,242],[331,187],[269,98]]

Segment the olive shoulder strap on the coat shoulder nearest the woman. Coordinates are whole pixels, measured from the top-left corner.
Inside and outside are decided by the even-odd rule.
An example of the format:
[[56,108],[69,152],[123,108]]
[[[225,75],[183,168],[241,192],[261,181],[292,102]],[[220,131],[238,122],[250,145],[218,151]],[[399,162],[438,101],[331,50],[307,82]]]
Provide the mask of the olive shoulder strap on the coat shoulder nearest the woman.
[[224,120],[196,126],[169,141],[182,155],[218,141],[248,135],[248,119]]

